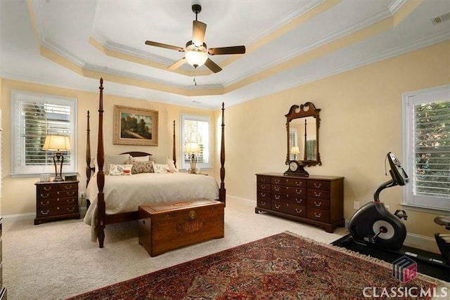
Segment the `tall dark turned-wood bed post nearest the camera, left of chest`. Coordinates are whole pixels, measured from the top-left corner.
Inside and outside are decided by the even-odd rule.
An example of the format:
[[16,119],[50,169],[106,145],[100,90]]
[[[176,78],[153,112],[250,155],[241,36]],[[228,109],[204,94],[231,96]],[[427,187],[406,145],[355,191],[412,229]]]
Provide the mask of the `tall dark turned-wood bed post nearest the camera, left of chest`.
[[105,226],[106,226],[106,213],[105,213],[105,195],[103,194],[103,187],[105,186],[105,172],[103,171],[103,164],[105,162],[105,149],[103,147],[103,78],[100,79],[100,99],[98,105],[98,146],[97,146],[97,186],[98,186],[98,200],[97,200],[97,237],[98,246],[103,248],[103,242],[105,240]]

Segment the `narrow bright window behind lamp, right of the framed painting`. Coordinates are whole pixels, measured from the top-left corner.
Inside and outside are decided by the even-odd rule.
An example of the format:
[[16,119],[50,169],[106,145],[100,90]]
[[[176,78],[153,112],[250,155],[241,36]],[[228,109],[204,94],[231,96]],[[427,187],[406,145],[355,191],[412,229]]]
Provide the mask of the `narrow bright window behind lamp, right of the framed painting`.
[[181,166],[179,169],[191,167],[189,156],[191,153],[184,152],[186,143],[196,142],[200,146],[197,156],[197,167],[207,169],[211,167],[211,118],[198,115],[181,114]]

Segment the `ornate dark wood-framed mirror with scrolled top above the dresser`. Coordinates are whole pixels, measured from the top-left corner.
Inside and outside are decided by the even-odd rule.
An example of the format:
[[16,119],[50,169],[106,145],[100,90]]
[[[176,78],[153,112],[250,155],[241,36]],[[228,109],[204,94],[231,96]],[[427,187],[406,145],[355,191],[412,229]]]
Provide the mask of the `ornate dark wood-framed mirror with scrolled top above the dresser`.
[[311,102],[290,107],[288,115],[285,115],[288,133],[286,164],[293,161],[308,167],[322,164],[319,154],[320,111]]

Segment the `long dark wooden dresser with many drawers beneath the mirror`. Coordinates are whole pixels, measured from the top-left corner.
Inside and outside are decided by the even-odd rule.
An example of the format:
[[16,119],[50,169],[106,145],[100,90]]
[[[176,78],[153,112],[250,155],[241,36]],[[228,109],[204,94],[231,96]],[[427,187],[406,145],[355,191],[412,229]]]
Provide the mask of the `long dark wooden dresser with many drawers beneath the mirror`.
[[310,223],[333,233],[345,226],[344,177],[256,174],[257,207],[266,212]]

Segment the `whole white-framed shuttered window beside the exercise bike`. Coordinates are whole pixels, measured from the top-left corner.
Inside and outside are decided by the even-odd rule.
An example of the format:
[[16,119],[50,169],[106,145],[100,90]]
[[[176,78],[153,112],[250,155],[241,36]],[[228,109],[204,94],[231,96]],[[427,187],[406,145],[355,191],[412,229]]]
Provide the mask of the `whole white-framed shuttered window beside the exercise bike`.
[[403,98],[404,204],[450,211],[450,86]]

